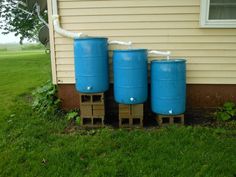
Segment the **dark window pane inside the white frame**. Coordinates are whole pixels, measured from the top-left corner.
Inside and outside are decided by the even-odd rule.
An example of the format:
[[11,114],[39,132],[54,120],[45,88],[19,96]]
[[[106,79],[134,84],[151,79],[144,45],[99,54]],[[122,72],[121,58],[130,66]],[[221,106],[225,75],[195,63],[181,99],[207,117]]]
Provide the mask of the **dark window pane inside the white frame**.
[[236,0],[210,0],[209,20],[236,20]]

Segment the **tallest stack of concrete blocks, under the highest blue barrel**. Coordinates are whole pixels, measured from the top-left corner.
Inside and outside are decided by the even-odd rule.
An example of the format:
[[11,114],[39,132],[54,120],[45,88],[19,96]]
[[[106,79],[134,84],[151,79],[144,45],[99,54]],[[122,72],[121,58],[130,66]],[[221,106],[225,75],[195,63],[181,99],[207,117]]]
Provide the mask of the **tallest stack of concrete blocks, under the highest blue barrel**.
[[80,117],[83,127],[104,127],[104,93],[80,94]]

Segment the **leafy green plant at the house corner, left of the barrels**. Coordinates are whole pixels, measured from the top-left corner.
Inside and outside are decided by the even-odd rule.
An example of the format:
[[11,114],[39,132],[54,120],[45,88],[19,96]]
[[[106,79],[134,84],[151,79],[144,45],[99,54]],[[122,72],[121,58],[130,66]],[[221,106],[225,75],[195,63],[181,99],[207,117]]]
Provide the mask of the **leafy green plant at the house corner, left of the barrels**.
[[60,100],[57,98],[57,89],[50,81],[33,92],[32,107],[44,115],[59,112]]

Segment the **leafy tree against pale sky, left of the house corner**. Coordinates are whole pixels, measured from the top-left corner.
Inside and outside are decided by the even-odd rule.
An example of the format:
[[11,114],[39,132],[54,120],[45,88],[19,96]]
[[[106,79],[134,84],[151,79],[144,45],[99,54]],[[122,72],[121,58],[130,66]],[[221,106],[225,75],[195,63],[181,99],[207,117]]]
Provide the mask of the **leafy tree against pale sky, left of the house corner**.
[[[3,34],[14,32],[20,37],[20,43],[24,39],[38,40],[38,31],[43,23],[37,17],[35,10],[29,10],[24,5],[26,0],[0,0],[0,28]],[[41,16],[47,21],[47,12],[41,12]]]

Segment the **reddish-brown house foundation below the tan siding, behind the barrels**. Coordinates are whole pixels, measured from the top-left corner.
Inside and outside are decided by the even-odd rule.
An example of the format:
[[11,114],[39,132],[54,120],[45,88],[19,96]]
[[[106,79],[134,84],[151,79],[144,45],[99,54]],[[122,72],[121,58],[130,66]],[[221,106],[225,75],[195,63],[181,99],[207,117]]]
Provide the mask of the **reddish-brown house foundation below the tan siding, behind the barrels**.
[[[150,89],[150,85],[149,85]],[[75,90],[74,84],[59,84],[58,96],[62,100],[62,108],[71,110],[79,108],[79,93]],[[222,106],[226,101],[236,102],[236,84],[188,84],[187,103],[185,117],[187,121],[202,120],[211,116],[215,108]],[[106,115],[107,118],[118,117],[118,104],[114,101],[113,85],[105,93]],[[152,118],[150,91],[148,100],[145,102],[145,116]],[[210,111],[210,112],[209,112]]]

